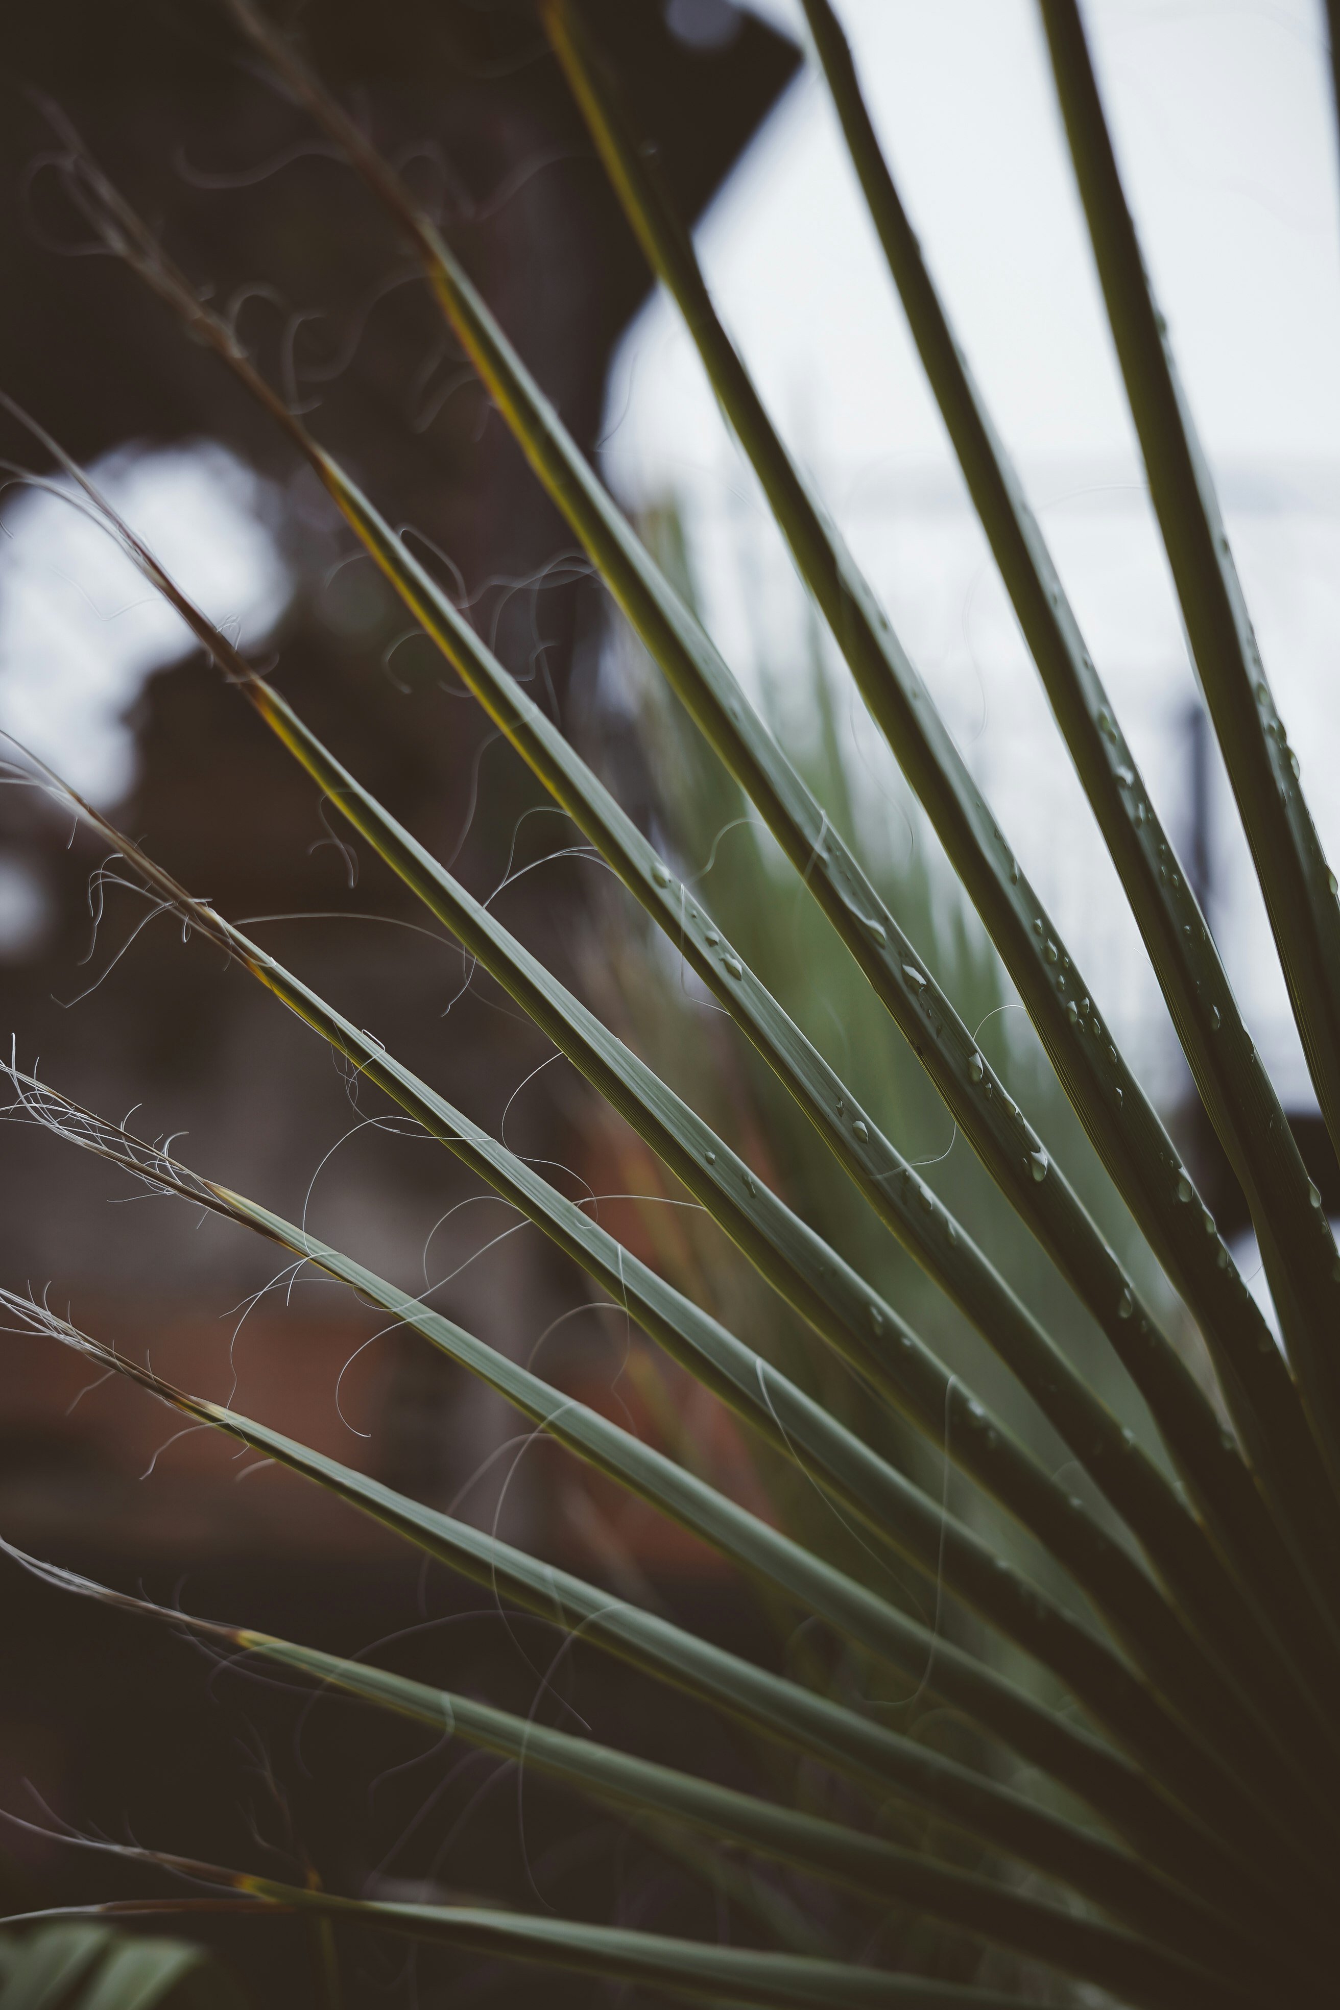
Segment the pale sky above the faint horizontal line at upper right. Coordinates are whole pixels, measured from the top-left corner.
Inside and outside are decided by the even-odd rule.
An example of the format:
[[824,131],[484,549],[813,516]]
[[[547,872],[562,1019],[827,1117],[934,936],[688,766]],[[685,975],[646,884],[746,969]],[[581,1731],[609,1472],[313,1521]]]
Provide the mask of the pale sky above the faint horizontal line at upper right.
[[[759,10],[804,36],[788,0]],[[1033,0],[842,0],[840,14],[1011,448],[1129,452]],[[1340,456],[1340,179],[1320,0],[1087,0],[1085,20],[1209,448]],[[763,392],[826,462],[942,450],[814,74],[729,183],[701,251]],[[715,454],[711,408],[669,326],[653,308],[629,344],[625,478]],[[613,410],[627,394],[623,382]]]

